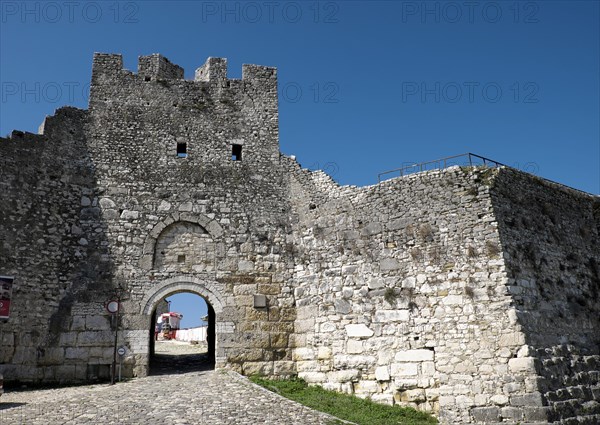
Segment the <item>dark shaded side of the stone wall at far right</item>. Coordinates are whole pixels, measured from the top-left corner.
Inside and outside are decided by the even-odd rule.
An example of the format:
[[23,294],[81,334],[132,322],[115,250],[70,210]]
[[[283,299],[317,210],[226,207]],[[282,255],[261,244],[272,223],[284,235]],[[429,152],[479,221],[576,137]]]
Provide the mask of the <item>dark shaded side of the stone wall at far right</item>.
[[508,291],[526,336],[514,361],[538,380],[531,403],[551,421],[600,423],[600,197],[515,170],[496,188]]

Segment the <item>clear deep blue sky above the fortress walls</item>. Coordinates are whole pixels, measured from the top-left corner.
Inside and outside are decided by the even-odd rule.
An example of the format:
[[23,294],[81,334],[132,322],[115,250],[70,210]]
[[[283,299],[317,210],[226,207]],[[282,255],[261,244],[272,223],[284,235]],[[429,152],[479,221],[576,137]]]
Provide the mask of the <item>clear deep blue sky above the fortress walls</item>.
[[[597,1],[0,2],[0,134],[85,108],[93,52],[275,66],[280,143],[342,184],[467,151],[600,193]],[[184,313],[185,314],[185,313]]]

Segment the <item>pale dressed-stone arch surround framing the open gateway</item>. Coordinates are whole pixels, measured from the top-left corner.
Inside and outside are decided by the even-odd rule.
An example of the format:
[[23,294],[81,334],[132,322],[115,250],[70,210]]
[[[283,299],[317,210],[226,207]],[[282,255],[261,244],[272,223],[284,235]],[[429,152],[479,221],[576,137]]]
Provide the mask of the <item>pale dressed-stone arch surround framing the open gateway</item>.
[[[146,296],[141,303],[141,314],[147,319],[148,325],[153,326],[153,313],[159,302],[167,296],[189,292],[204,298],[209,311],[208,328],[208,352],[209,361],[217,366],[222,366],[222,359],[217,356],[218,337],[217,328],[220,321],[220,315],[223,312],[224,297],[212,282],[203,281],[191,276],[176,276],[166,279],[152,286],[146,292]],[[148,362],[150,363],[151,353],[148,351]]]

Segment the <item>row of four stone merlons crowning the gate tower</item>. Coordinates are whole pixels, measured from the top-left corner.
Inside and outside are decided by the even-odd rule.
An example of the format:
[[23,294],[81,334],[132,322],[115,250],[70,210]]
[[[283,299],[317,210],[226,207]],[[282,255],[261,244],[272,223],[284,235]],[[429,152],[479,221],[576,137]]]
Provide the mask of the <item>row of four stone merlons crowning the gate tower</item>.
[[[92,75],[119,75],[120,73],[135,75],[123,68],[123,57],[113,53],[94,53]],[[184,69],[169,61],[159,53],[138,58],[137,75],[146,81],[153,79],[183,80]],[[277,78],[277,69],[262,65],[242,65],[242,81],[271,80]],[[194,80],[198,82],[225,82],[227,78],[227,59],[209,57],[196,69]]]

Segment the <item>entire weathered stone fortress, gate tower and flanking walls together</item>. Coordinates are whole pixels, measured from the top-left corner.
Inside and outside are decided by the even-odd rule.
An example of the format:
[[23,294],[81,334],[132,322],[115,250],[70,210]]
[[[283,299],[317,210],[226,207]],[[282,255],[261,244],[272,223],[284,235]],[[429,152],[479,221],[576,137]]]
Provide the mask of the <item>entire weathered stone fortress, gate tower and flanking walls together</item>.
[[340,187],[279,153],[274,68],[226,74],[96,54],[88,110],[0,140],[7,381],[106,376],[115,294],[142,376],[153,310],[190,291],[217,366],[444,423],[600,420],[598,197],[508,168]]

